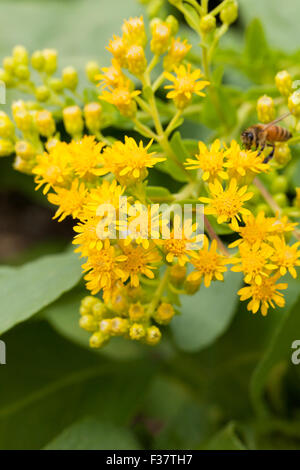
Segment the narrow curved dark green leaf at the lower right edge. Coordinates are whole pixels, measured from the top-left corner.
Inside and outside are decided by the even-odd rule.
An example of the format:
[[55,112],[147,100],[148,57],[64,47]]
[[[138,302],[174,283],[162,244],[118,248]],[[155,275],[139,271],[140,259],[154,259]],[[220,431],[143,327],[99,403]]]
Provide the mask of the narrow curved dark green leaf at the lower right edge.
[[[287,300],[289,305],[293,305],[299,296],[299,281],[292,281],[289,288]],[[267,414],[266,403],[264,402],[264,389],[270,377],[270,373],[278,364],[291,364],[293,350],[292,343],[299,339],[300,332],[300,300],[298,300],[289,310],[282,312],[282,318],[278,324],[269,346],[267,347],[261,361],[257,365],[251,380],[251,398],[253,406],[258,414]]]

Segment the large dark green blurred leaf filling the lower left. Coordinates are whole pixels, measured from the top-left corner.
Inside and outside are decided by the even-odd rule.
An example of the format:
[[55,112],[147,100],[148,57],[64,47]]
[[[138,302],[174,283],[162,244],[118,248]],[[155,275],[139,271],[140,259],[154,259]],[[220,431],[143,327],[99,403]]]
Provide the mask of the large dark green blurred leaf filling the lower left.
[[46,322],[3,340],[0,449],[39,449],[86,416],[128,426],[155,370],[151,360],[119,364],[74,346]]

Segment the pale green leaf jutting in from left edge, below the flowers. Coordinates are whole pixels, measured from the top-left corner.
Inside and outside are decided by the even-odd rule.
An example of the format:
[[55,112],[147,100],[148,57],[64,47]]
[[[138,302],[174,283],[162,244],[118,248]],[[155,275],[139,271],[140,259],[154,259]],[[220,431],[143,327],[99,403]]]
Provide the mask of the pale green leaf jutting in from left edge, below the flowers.
[[45,256],[1,276],[0,334],[27,320],[70,290],[81,278],[74,253]]

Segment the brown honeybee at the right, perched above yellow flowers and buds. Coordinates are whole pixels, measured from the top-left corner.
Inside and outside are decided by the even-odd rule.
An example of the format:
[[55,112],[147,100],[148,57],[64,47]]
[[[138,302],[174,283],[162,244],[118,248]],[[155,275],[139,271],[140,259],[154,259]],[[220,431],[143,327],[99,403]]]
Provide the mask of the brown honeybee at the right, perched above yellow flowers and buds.
[[286,113],[269,124],[255,124],[248,127],[241,135],[245,148],[250,150],[251,147],[255,147],[255,150],[259,149],[258,155],[260,155],[266,145],[272,147],[271,153],[264,159],[264,163],[268,163],[274,156],[275,142],[286,142],[292,137],[290,131],[284,127],[276,126],[277,122],[282,121],[290,114]]

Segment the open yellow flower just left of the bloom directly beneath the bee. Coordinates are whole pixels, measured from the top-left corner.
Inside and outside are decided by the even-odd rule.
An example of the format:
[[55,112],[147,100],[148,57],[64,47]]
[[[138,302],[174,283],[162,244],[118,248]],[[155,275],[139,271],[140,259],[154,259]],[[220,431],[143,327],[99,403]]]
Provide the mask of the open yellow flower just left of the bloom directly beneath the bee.
[[202,179],[204,181],[214,181],[216,178],[228,179],[227,173],[224,171],[224,150],[221,149],[219,139],[215,140],[210,149],[203,142],[199,142],[199,154],[195,155],[195,159],[188,158],[185,165],[188,170],[200,168]]

